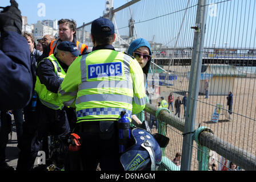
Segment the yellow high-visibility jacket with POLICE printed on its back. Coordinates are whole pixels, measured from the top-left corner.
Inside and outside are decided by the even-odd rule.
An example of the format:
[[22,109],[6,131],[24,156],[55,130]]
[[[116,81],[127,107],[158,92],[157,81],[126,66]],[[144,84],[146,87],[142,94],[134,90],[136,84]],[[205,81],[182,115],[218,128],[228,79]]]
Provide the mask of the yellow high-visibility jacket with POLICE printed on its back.
[[138,61],[122,52],[100,49],[75,59],[59,95],[64,105],[76,107],[78,122],[115,121],[122,110],[130,119],[146,104],[143,79]]

